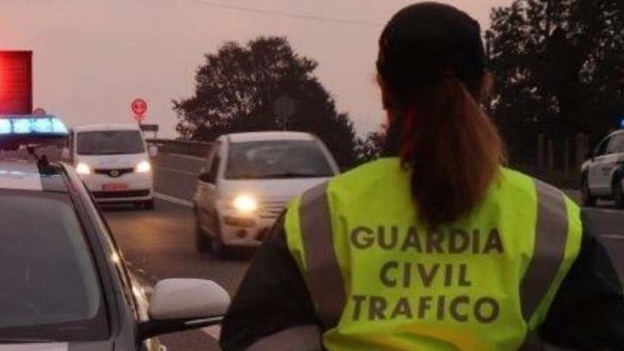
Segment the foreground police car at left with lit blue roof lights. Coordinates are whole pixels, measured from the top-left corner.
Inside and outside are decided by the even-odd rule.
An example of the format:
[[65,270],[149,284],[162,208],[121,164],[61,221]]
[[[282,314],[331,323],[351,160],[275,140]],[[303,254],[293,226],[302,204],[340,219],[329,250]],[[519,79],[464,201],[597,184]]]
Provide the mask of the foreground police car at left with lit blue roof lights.
[[51,116],[0,119],[0,350],[163,350],[159,334],[218,323],[229,296],[214,282],[146,298],[76,171],[33,147],[66,133]]

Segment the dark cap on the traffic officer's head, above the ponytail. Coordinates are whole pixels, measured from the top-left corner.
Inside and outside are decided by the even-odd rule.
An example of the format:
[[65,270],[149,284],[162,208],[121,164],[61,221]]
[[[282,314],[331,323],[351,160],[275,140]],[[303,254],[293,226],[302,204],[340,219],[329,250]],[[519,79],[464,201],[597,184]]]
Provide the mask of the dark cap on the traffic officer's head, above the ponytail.
[[399,11],[379,39],[377,70],[399,90],[435,83],[450,72],[465,82],[485,71],[475,19],[453,6],[416,3]]

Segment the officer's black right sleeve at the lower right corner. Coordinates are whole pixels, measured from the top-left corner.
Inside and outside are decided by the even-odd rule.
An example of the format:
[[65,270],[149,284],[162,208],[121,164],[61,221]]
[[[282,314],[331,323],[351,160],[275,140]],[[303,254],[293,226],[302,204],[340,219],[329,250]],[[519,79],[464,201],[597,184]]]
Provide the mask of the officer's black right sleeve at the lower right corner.
[[539,334],[573,350],[624,350],[622,286],[609,253],[582,215],[582,245]]

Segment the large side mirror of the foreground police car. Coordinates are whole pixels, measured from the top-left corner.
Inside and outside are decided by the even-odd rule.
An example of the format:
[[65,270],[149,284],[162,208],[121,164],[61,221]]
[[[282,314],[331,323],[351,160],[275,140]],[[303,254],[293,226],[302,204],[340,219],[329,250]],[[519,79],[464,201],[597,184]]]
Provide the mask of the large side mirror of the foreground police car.
[[139,324],[139,336],[145,340],[219,324],[229,302],[227,291],[211,280],[162,280],[150,298],[150,320]]

